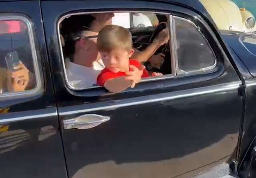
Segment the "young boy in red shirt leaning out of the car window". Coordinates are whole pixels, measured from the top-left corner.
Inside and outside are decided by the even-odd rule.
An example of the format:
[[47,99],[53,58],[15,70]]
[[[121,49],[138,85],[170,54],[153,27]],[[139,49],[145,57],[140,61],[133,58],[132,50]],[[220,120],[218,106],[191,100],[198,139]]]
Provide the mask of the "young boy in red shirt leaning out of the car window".
[[[150,77],[143,65],[136,59],[130,59],[134,49],[132,49],[132,35],[127,29],[115,25],[105,26],[98,34],[97,48],[105,65],[97,77],[98,85],[103,85],[108,89],[111,79],[117,77],[129,79],[128,77],[132,75],[135,67],[143,71],[141,77]],[[162,73],[154,72],[151,76],[159,75]],[[130,86],[132,86],[132,82],[128,81],[123,86],[116,86],[114,92],[122,91]]]

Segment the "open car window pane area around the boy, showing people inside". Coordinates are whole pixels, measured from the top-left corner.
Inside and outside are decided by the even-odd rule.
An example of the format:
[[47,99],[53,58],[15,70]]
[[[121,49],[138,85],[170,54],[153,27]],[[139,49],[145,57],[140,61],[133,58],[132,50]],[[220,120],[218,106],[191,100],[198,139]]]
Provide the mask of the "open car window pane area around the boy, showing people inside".
[[[84,13],[62,17],[59,22],[59,41],[65,80],[70,89],[82,90],[101,86],[96,82],[105,68],[105,61],[98,52],[97,39],[100,30],[110,24],[130,31],[135,51],[130,59],[146,66],[148,77],[145,78],[172,74],[168,40],[170,30],[166,26],[169,24],[168,19],[166,14],[144,12]],[[95,28],[92,24],[101,25]],[[165,28],[165,35],[158,36]]]

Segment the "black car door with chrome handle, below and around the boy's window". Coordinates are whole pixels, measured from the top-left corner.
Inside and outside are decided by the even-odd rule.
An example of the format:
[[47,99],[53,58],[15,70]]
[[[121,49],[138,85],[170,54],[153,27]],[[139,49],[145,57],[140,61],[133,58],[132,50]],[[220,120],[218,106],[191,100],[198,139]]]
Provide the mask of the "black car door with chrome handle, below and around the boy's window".
[[[172,65],[188,67],[188,63],[194,71],[175,67],[173,75],[116,94],[101,87],[69,88],[58,37],[60,18],[83,12],[147,10],[171,15]],[[171,2],[140,0],[42,1],[42,14],[70,178],[181,178],[236,159],[241,81],[216,31],[198,14]],[[204,44],[184,28],[175,32],[182,22],[192,25],[206,40]],[[216,63],[196,71],[197,59],[207,56],[188,56],[204,53],[207,45]],[[182,46],[189,49],[180,50]]]

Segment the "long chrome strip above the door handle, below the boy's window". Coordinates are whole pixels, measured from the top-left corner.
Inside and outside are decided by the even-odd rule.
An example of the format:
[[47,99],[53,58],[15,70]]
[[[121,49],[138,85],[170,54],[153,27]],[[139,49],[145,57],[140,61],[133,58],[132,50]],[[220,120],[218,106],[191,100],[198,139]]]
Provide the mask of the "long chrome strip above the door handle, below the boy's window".
[[[137,97],[137,99],[140,99],[141,101],[134,101],[134,102],[126,102],[126,99],[123,100],[118,100],[117,102],[123,102],[122,104],[113,104],[113,105],[108,105],[104,107],[94,107],[94,104],[91,105],[92,108],[88,109],[80,109],[80,110],[75,110],[77,106],[74,107],[64,107],[64,108],[59,108],[59,114],[60,116],[65,116],[65,115],[72,115],[72,114],[80,114],[80,113],[87,113],[87,112],[93,112],[93,111],[99,111],[99,110],[112,110],[120,107],[128,107],[132,105],[141,105],[141,104],[146,104],[146,103],[154,103],[154,102],[159,102],[159,101],[167,101],[167,100],[172,100],[172,99],[179,99],[183,97],[193,97],[196,95],[204,95],[204,94],[209,94],[209,93],[215,93],[215,92],[225,92],[229,90],[234,90],[238,89],[238,87],[242,84],[241,82],[233,82],[233,83],[228,83],[228,84],[220,84],[220,85],[215,85],[215,86],[208,86],[208,87],[201,87],[201,88],[195,88],[195,89],[188,89],[184,91],[174,91],[170,93],[161,93],[157,95],[152,95],[151,97],[154,97],[154,99],[148,99],[148,96],[143,96],[143,97]],[[166,95],[169,95],[168,97],[165,97]],[[106,104],[109,104],[110,102],[106,102]],[[112,102],[114,103],[114,101]],[[98,103],[95,104],[95,106]],[[86,104],[85,104],[86,106]],[[62,109],[64,112],[61,112]],[[70,111],[67,111],[70,110]]]

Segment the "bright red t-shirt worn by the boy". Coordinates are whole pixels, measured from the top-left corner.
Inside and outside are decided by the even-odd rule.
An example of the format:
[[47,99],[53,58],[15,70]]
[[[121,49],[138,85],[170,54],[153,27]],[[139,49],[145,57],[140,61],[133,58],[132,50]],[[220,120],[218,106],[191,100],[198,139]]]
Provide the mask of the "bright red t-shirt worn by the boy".
[[[141,66],[141,63],[139,63],[135,59],[130,59],[129,65],[134,65],[135,67],[139,68]],[[129,71],[130,70],[131,69],[129,69]],[[114,73],[114,72],[108,70],[107,68],[105,68],[98,75],[97,84],[102,86],[108,79],[114,79],[114,78],[121,77],[121,76],[125,76],[125,72]],[[146,71],[146,69],[143,70],[141,77],[149,77],[148,71]]]

